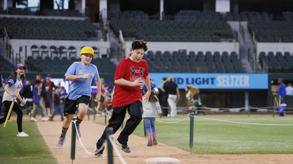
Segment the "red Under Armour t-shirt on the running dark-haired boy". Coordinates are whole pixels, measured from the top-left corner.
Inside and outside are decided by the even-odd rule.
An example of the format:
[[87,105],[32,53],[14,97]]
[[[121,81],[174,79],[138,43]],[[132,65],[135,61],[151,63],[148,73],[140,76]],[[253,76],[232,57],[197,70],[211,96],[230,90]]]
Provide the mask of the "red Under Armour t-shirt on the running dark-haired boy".
[[[138,78],[143,80],[147,76],[149,76],[149,71],[145,60],[142,59],[139,63],[135,63],[127,57],[118,64],[114,80],[124,78],[128,81],[135,81]],[[142,102],[140,86],[129,87],[116,84],[113,95],[113,107],[122,107],[135,101]]]

